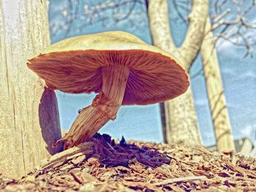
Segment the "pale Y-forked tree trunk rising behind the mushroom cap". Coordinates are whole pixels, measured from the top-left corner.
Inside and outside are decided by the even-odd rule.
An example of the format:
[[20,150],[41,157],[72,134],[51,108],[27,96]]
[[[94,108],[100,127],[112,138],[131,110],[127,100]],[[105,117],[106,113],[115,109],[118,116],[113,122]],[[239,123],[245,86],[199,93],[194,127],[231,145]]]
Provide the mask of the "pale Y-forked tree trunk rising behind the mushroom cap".
[[[167,1],[148,0],[148,19],[153,44],[174,55],[187,72],[200,50],[207,16],[208,1],[193,1],[186,38],[181,47],[176,47],[170,34]],[[190,146],[202,145],[192,89],[189,87],[178,98],[165,101],[164,107],[166,141]]]

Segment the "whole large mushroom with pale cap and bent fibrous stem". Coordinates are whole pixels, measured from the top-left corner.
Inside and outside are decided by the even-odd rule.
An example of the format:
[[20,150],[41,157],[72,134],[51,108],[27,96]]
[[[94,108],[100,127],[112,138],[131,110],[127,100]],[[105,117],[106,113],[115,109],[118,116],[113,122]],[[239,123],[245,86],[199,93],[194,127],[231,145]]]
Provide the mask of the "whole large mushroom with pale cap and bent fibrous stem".
[[92,137],[108,120],[114,120],[122,104],[173,99],[189,86],[176,58],[123,31],[64,39],[29,60],[28,66],[53,90],[99,93],[54,144],[64,142],[64,149]]

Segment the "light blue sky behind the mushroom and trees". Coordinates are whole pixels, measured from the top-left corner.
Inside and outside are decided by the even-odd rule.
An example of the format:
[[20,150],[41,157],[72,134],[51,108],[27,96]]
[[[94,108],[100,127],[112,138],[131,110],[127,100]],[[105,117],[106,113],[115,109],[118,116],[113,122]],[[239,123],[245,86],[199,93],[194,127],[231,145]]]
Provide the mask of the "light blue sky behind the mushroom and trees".
[[[92,2],[92,1],[89,1]],[[97,5],[97,1],[93,1]],[[117,24],[113,20],[108,20],[106,24],[94,23],[86,24],[86,17],[80,16],[85,12],[84,1],[80,1],[77,19],[70,28],[64,24],[70,14],[67,1],[51,0],[49,7],[49,20],[51,41],[58,42],[66,37],[80,34],[94,34],[102,31],[121,30],[135,34],[145,42],[151,44],[151,37],[148,29],[146,12],[141,12],[142,4],[135,6],[135,14],[131,20],[122,20]],[[90,9],[93,5],[88,4]],[[73,4],[72,9],[75,9]],[[186,34],[187,26],[178,20],[173,7],[170,4],[170,24],[172,27],[173,39],[176,45],[180,45]],[[127,10],[122,10],[125,13]],[[66,14],[67,13],[67,14]],[[256,15],[256,10],[254,10]],[[111,10],[107,10],[105,15],[110,15]],[[102,17],[102,15],[99,15]],[[250,16],[254,17],[253,15]],[[253,19],[253,18],[252,18]],[[97,19],[95,19],[97,20]],[[175,22],[174,22],[175,21]],[[256,23],[256,19],[255,19]],[[80,26],[85,25],[80,28]],[[104,26],[106,25],[106,26]],[[59,27],[63,26],[60,30]],[[67,32],[68,31],[68,32]],[[256,35],[256,34],[255,34]],[[222,80],[225,88],[227,107],[230,114],[233,135],[236,139],[250,137],[255,141],[256,137],[256,60],[255,58],[243,58],[244,48],[234,47],[228,42],[217,44]],[[192,66],[191,74],[195,74],[201,67],[200,55]],[[211,123],[211,115],[206,96],[205,82],[203,76],[197,76],[191,80],[192,90],[195,97],[195,107],[199,128],[205,145],[214,145],[214,131]],[[67,94],[57,91],[59,100],[59,111],[61,118],[61,128],[69,129],[73,120],[78,115],[78,110],[91,104],[95,94]],[[161,120],[159,116],[159,104],[148,106],[124,106],[118,111],[117,119],[105,125],[100,132],[108,133],[116,139],[124,135],[127,139],[138,139],[153,142],[162,142]]]

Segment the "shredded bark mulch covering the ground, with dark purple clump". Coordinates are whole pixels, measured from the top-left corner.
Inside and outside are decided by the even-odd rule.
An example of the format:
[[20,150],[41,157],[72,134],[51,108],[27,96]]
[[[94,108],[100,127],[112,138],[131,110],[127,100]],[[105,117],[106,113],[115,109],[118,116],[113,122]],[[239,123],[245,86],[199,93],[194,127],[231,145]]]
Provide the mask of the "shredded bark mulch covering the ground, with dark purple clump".
[[256,160],[96,134],[0,191],[256,191]]

